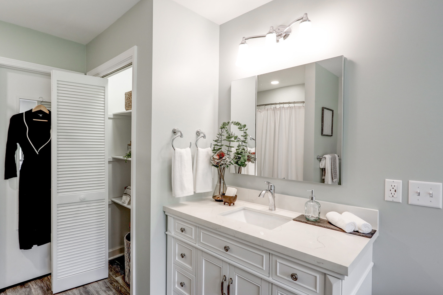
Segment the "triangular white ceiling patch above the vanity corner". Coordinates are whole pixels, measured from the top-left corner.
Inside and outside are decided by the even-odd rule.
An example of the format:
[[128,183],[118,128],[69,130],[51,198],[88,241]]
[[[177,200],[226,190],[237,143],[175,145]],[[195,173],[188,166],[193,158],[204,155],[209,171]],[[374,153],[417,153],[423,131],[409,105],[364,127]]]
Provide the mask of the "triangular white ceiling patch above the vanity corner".
[[174,0],[221,25],[272,0]]

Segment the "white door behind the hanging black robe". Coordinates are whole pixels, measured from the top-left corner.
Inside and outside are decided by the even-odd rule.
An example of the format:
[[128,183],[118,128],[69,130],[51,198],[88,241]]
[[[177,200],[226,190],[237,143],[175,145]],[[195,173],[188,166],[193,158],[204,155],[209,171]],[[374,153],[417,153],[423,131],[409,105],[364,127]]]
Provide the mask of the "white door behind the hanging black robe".
[[9,119],[19,111],[19,97],[38,100],[40,96],[51,97],[51,77],[0,68],[0,289],[51,272],[51,243],[19,249],[19,179],[4,180]]

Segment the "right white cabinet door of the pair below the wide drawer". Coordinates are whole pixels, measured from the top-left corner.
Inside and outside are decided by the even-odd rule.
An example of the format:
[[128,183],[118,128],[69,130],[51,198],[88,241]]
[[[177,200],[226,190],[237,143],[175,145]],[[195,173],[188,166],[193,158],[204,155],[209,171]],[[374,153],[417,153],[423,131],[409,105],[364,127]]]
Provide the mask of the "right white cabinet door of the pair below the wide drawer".
[[229,264],[226,295],[269,295],[269,282]]

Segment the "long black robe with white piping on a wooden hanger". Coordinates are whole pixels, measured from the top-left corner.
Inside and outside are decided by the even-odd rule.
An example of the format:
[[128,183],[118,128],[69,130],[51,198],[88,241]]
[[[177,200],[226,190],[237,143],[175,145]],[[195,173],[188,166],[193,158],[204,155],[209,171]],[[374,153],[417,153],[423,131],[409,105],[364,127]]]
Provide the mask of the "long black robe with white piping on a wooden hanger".
[[17,143],[23,151],[19,179],[19,244],[20,249],[26,250],[51,242],[51,111],[47,114],[29,110],[11,117],[4,179],[17,177]]

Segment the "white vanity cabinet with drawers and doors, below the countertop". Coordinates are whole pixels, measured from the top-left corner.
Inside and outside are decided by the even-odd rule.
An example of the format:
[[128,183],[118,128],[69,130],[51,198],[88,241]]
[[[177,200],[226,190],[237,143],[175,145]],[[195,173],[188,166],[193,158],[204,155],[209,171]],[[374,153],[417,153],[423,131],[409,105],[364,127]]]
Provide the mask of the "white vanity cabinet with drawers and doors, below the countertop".
[[371,294],[359,287],[371,285],[372,245],[348,277],[170,213],[167,224],[167,295]]

